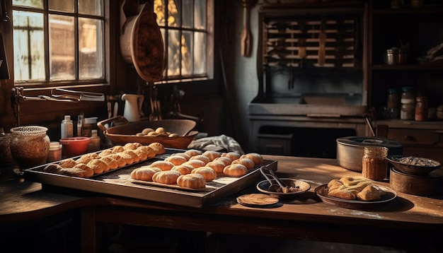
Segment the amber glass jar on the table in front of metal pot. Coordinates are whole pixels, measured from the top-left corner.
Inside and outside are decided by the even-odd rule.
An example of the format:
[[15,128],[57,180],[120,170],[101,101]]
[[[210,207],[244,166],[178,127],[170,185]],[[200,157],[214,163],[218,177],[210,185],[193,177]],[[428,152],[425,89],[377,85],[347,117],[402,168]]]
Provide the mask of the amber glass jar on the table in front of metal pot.
[[370,180],[384,180],[388,175],[388,148],[367,146],[363,148],[362,176]]

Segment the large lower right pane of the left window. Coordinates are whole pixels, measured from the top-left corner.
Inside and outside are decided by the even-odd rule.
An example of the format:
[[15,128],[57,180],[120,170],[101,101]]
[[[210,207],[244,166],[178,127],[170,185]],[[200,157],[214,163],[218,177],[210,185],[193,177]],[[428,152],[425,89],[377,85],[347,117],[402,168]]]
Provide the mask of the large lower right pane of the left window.
[[79,78],[103,78],[103,22],[79,18]]

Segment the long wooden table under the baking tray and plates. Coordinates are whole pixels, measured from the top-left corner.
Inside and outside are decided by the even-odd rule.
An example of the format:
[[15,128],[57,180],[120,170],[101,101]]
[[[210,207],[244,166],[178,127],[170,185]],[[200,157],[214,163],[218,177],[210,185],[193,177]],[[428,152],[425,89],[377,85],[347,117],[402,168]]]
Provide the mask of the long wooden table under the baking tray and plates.
[[[0,224],[33,220],[81,209],[82,248],[98,251],[100,223],[146,225],[159,228],[238,235],[297,238],[326,242],[379,245],[401,249],[442,249],[442,196],[423,197],[398,192],[379,208],[355,210],[324,204],[313,189],[333,178],[356,176],[333,159],[265,155],[277,160],[277,175],[306,180],[311,190],[275,208],[251,208],[236,196],[258,192],[253,186],[203,208],[161,204],[103,194],[59,194],[41,185],[17,180],[1,182]],[[389,182],[380,182],[389,187]]]

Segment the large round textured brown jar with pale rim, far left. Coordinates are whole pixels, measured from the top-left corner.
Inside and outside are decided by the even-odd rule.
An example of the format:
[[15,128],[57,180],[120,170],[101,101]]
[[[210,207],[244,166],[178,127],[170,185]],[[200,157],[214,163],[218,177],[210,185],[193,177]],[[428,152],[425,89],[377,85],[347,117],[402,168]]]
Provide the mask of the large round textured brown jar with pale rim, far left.
[[46,163],[50,152],[50,137],[46,127],[28,126],[11,129],[11,155],[17,168],[14,172],[23,175],[23,170]]

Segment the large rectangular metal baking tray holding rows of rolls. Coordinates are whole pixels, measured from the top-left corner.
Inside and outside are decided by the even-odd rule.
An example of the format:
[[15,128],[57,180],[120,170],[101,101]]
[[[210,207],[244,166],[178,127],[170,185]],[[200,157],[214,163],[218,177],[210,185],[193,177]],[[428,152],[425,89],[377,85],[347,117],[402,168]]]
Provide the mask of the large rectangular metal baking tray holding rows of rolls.
[[[90,178],[70,177],[44,172],[43,169],[47,165],[45,164],[25,170],[24,179],[31,182],[40,182],[43,185],[47,184],[56,187],[79,189],[88,192],[125,196],[134,199],[144,199],[197,208],[219,201],[226,196],[235,194],[262,180],[262,175],[260,170],[258,170],[261,165],[254,167],[253,170],[250,170],[248,174],[243,177],[218,176],[213,182],[208,182],[207,185],[210,187],[199,190],[142,184],[137,182],[138,180],[132,180],[130,174],[135,168],[149,165],[156,160],[163,160],[172,153],[180,153],[183,151],[184,150],[180,149],[166,148],[166,153],[156,158],[127,165],[116,170],[110,170]],[[264,160],[262,165],[267,165],[270,169],[277,170],[276,160]]]

